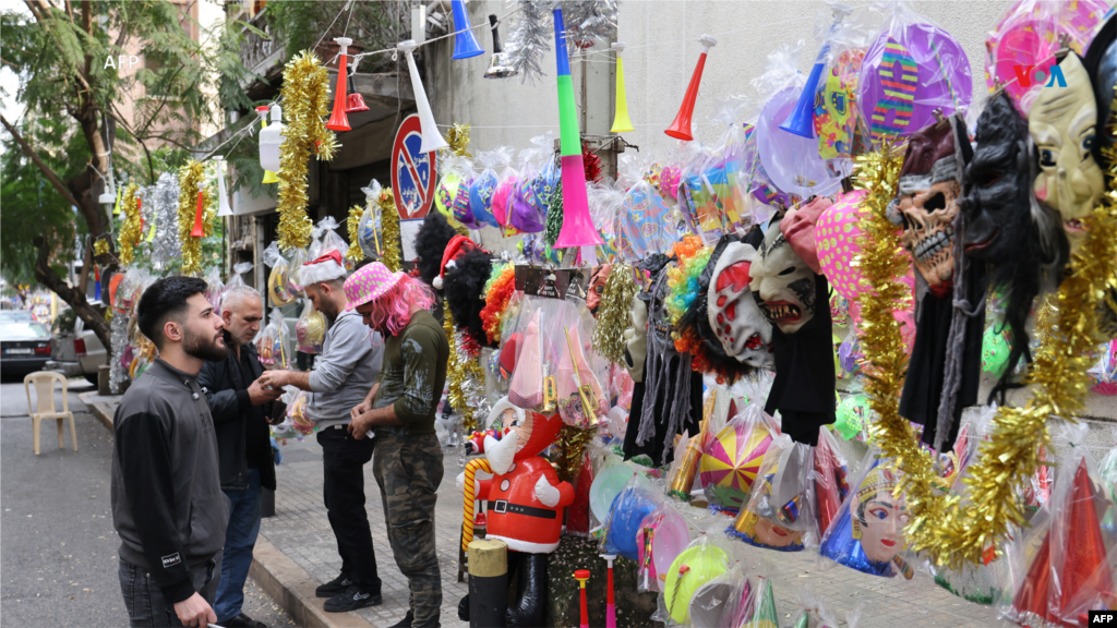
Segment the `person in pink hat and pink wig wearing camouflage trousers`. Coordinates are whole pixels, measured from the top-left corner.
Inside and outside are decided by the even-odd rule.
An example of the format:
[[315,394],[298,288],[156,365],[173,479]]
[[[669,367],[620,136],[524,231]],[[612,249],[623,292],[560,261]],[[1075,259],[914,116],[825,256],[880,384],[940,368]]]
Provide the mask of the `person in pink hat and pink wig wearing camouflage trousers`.
[[439,626],[442,581],[435,553],[435,502],[442,483],[442,447],[435,412],[446,383],[450,344],[431,316],[426,284],[374,261],[345,282],[349,307],[384,335],[384,369],[352,410],[350,431],[376,434],[372,473],[388,520],[395,564],[411,588],[411,608],[392,628]]

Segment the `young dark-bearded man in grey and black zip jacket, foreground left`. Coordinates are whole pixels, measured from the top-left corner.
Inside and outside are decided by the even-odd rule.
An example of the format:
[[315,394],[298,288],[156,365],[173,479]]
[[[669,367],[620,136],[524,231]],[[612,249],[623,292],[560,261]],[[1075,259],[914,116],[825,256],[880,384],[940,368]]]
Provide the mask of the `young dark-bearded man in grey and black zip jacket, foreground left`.
[[132,628],[204,628],[217,621],[210,605],[229,498],[198,371],[206,360],[225,359],[225,323],[206,301],[206,282],[166,277],[140,298],[139,324],[160,356],[113,418],[121,592]]

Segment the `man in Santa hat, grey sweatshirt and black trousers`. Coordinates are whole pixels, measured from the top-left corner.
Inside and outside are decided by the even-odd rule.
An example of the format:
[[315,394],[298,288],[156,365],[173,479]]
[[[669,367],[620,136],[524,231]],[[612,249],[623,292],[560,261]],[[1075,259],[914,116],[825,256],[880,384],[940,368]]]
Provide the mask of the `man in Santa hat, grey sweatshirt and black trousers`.
[[370,337],[361,317],[350,311],[343,291],[345,267],[336,250],[304,264],[299,280],[314,308],[330,323],[322,353],[311,372],[268,371],[259,382],[275,389],[294,386],[314,393],[307,416],[318,426],[323,498],[342,558],[341,574],[315,593],[330,598],[323,605],[326,612],[349,612],[382,602],[364,507],[363,467],[372,459],[373,440],[355,438],[346,426],[350,410],[362,402],[380,373],[383,343],[376,334]]

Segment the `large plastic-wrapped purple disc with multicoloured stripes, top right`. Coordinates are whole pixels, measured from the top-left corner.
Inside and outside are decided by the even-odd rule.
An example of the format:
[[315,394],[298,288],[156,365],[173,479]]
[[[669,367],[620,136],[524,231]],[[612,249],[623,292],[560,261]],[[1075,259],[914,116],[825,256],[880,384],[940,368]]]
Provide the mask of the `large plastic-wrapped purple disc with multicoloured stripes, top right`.
[[[970,106],[973,76],[962,45],[910,0],[876,0],[885,21],[858,77],[858,106],[872,141],[907,136]],[[904,72],[896,76],[895,68]]]

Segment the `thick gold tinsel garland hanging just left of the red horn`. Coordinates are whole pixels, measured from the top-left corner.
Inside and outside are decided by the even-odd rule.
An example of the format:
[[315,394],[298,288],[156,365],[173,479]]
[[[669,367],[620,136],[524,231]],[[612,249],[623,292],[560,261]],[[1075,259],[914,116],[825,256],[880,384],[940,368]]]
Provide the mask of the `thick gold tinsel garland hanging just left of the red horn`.
[[330,114],[330,75],[314,53],[296,55],[283,70],[283,101],[287,124],[279,145],[279,248],[292,250],[311,244],[314,223],[306,215],[306,168],[311,153],[334,159],[337,141],[326,129]]

